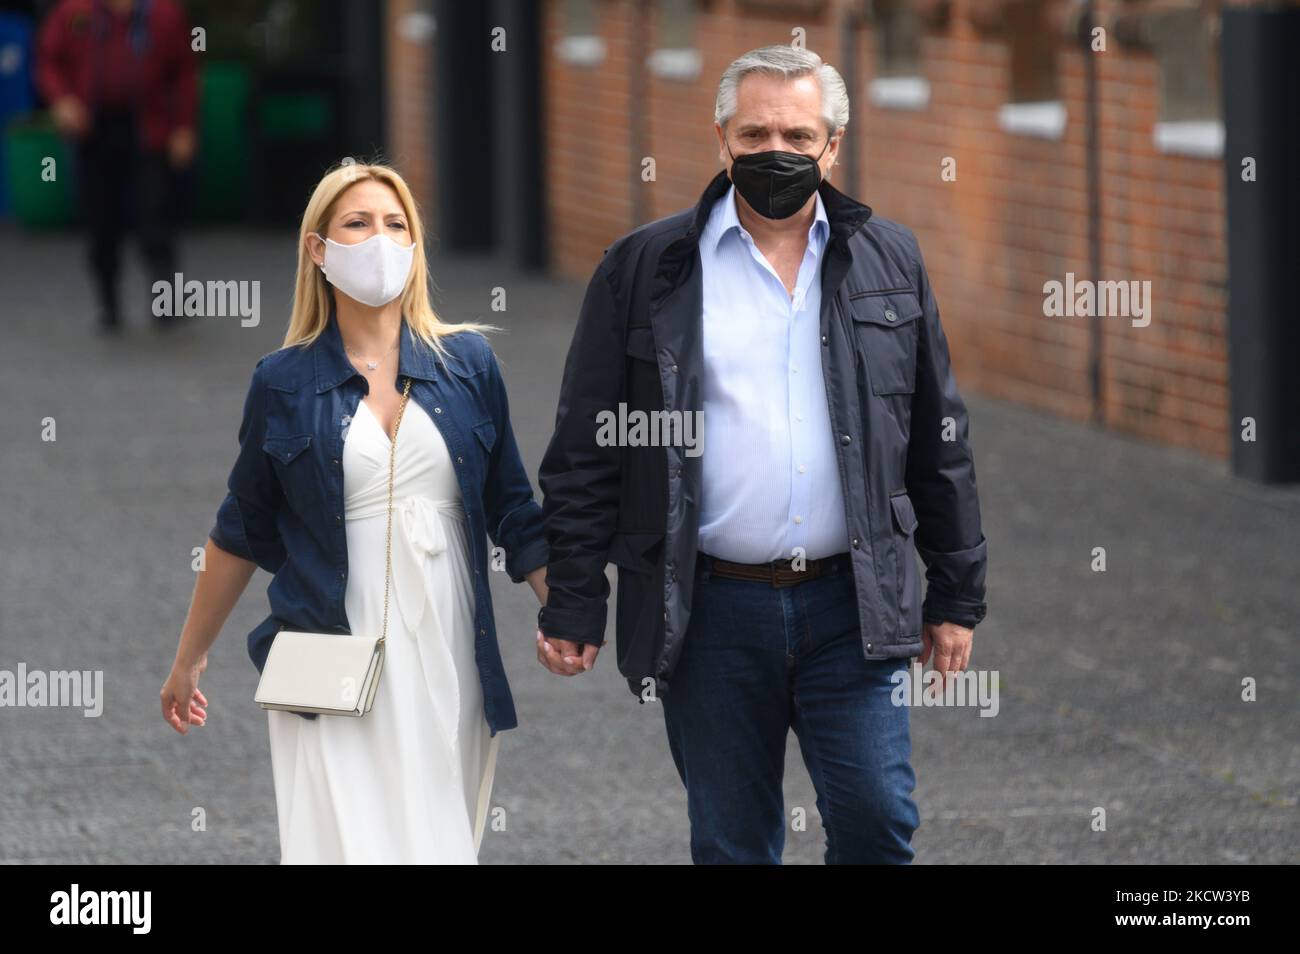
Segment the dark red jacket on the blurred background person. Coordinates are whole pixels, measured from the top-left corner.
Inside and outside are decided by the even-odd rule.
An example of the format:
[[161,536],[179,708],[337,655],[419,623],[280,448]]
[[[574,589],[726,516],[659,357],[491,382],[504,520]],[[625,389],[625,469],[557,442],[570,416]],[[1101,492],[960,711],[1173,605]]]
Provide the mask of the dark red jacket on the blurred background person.
[[190,27],[174,0],[135,0],[126,17],[104,0],[60,0],[36,38],[36,87],[48,103],[70,94],[92,122],[99,105],[129,107],[150,149],[194,126],[196,70]]

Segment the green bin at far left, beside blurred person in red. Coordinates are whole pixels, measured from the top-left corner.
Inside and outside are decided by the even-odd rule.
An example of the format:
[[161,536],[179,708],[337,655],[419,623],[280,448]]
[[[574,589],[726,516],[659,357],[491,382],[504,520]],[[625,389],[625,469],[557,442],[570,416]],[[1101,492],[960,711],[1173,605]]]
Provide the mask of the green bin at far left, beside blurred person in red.
[[46,113],[14,117],[5,136],[5,194],[14,220],[31,229],[77,220],[68,146]]

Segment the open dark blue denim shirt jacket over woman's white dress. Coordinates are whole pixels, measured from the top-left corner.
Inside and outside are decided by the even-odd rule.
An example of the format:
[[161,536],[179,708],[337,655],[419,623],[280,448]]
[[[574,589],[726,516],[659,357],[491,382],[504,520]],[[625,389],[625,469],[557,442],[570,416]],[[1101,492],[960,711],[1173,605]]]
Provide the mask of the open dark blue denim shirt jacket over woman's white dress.
[[[495,736],[519,721],[497,645],[485,537],[499,548],[493,565],[502,565],[503,551],[516,584],[546,565],[549,550],[488,341],[460,331],[442,342],[451,352],[447,360],[411,334],[403,318],[396,383],[400,389],[412,380],[410,399],[438,426],[460,483],[474,573],[474,659]],[[226,552],[273,574],[270,615],[248,634],[257,672],[281,629],[351,633],[343,604],[343,434],[368,393],[369,382],[343,352],[333,309],[315,342],[273,351],[254,369],[239,456],[211,535]]]

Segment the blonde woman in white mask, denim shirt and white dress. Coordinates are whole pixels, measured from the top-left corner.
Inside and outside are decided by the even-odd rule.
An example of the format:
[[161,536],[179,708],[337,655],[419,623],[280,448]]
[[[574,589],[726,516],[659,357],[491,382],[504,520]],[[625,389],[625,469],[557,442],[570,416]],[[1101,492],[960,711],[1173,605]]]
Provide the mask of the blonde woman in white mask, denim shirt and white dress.
[[[411,192],[382,165],[316,186],[299,234],[285,346],[254,370],[239,456],[217,511],[164,719],[203,725],[207,651],[252,576],[281,629],[377,636],[373,708],[268,710],[281,863],[476,863],[498,732],[514,728],[488,589],[488,546],[546,602],[541,508],[519,458],[485,326],[439,321]],[[407,403],[402,393],[410,380]]]

